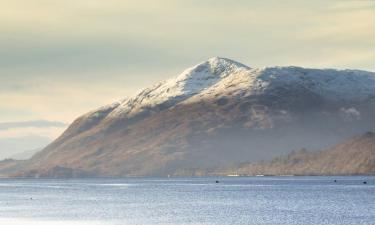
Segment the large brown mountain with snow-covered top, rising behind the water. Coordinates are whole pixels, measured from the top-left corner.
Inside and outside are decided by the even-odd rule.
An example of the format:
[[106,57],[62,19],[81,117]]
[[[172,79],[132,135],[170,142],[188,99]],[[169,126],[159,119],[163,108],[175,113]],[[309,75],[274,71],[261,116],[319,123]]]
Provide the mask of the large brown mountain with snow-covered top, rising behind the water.
[[375,74],[211,58],[76,119],[21,176],[199,175],[375,129]]

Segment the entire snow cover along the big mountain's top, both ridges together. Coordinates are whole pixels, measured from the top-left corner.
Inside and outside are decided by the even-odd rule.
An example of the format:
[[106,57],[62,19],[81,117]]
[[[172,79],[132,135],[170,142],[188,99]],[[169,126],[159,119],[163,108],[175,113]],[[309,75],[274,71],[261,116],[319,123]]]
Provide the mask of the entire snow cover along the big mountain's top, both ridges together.
[[[111,110],[108,116],[129,118],[155,106],[165,109],[185,100],[192,102],[239,93],[255,95],[288,86],[301,87],[330,100],[375,99],[375,75],[371,72],[300,67],[253,69],[230,59],[214,57],[131,98],[107,106]],[[107,108],[93,113],[102,115]]]

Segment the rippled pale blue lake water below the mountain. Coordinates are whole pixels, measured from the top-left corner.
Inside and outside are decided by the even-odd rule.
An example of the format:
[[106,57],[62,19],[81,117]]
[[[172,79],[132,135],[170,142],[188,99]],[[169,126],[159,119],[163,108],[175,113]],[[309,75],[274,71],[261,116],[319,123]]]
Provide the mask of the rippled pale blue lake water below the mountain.
[[373,225],[375,177],[4,179],[0,224]]

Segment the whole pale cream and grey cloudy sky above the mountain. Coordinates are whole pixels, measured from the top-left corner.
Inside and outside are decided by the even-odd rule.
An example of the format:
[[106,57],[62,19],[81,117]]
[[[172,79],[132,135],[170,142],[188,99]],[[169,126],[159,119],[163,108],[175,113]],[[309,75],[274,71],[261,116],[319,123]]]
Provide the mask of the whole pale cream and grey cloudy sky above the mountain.
[[0,159],[43,147],[79,115],[213,56],[375,71],[375,0],[0,5]]

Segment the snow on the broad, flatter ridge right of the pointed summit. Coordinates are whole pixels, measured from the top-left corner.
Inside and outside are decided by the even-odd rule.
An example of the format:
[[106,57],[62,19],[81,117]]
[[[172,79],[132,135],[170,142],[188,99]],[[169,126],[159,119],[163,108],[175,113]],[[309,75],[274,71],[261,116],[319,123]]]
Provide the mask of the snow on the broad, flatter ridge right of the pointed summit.
[[363,101],[375,97],[375,74],[359,70],[300,67],[248,69],[225,77],[206,92],[222,94],[233,89],[251,95],[288,86],[305,88],[330,100]]

